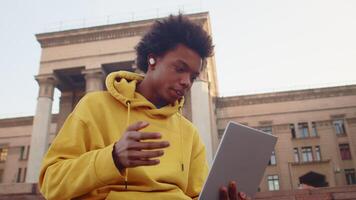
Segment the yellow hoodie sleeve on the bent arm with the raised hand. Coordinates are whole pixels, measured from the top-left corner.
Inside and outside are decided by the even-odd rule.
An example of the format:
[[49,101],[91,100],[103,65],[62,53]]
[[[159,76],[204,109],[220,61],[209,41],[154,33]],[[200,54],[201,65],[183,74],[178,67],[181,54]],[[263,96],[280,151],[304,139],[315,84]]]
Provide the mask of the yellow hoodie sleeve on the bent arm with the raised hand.
[[113,144],[90,149],[98,140],[100,133],[75,112],[69,115],[42,162],[39,186],[46,199],[71,199],[123,180],[112,159]]

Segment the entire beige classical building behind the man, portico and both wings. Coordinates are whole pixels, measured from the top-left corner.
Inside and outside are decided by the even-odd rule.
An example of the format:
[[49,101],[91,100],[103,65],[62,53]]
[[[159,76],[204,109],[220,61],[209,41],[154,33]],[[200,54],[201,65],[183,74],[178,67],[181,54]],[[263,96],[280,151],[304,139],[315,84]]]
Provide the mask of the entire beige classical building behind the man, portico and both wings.
[[[211,33],[208,13],[188,17]],[[42,47],[37,109],[35,116],[0,119],[0,195],[38,195],[32,183],[64,120],[83,95],[105,90],[110,72],[139,72],[134,46],[154,20],[36,35]],[[278,136],[259,199],[310,194],[295,192],[299,188],[334,188],[330,197],[356,190],[346,187],[356,184],[356,85],[219,97],[214,57],[205,64],[186,96],[184,115],[198,127],[209,162],[233,120]],[[55,88],[61,92],[58,114],[51,113]]]

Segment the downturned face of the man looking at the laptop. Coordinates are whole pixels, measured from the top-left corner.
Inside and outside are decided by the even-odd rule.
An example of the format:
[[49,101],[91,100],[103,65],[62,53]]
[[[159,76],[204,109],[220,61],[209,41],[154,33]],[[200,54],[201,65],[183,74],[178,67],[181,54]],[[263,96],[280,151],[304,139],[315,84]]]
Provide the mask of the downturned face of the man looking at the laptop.
[[199,76],[202,67],[199,54],[181,44],[155,60],[155,65],[149,67],[148,73],[152,76],[155,99],[161,104],[174,103],[182,98]]

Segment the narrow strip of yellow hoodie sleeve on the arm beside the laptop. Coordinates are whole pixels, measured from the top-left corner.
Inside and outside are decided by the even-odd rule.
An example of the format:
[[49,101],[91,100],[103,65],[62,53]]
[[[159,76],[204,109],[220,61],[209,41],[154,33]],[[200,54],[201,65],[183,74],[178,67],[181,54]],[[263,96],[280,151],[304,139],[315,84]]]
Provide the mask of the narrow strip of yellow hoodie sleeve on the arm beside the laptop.
[[199,133],[195,131],[189,167],[187,195],[192,199],[198,199],[208,174],[208,163],[206,161],[205,145]]

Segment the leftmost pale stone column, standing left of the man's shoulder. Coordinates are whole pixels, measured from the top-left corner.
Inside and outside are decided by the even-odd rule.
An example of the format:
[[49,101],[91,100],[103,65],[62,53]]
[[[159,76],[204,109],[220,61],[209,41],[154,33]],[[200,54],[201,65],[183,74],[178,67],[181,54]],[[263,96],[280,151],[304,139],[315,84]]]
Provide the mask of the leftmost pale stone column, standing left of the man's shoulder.
[[33,120],[31,148],[27,165],[27,183],[37,183],[41,162],[48,148],[51,125],[53,92],[56,79],[53,75],[38,75],[39,84],[36,114]]

